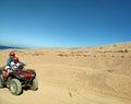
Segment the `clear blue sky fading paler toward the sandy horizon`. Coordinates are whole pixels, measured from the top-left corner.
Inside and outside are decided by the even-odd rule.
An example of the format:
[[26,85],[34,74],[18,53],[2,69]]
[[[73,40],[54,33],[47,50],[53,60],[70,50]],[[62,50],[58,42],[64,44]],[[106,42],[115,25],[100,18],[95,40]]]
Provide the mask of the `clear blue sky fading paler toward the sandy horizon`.
[[0,0],[0,44],[78,47],[131,41],[131,0]]

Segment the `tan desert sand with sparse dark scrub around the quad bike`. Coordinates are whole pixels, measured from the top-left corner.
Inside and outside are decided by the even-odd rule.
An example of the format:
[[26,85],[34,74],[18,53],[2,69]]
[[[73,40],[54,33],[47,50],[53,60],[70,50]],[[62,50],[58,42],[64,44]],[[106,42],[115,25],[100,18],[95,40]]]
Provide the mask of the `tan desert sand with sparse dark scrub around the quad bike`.
[[131,104],[131,43],[76,48],[0,50],[0,66],[14,51],[37,72],[38,90],[12,95],[0,89],[0,104]]

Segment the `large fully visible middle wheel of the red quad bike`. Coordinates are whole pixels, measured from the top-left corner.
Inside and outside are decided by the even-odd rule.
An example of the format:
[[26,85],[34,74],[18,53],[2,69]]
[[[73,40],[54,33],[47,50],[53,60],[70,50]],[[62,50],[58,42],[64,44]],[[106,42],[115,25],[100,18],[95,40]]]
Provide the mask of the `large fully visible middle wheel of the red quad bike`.
[[10,91],[14,95],[19,95],[22,92],[22,84],[17,79],[12,79],[10,82]]

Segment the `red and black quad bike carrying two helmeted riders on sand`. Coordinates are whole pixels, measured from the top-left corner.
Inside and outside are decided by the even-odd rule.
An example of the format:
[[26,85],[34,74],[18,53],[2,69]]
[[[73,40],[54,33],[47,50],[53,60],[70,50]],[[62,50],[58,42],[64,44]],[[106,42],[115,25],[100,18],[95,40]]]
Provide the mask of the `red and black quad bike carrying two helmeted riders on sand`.
[[14,95],[20,95],[24,88],[36,91],[38,89],[36,72],[29,69],[25,70],[23,65],[20,65],[9,74],[4,68],[0,68],[0,88],[5,86]]

